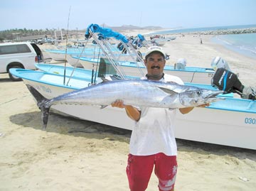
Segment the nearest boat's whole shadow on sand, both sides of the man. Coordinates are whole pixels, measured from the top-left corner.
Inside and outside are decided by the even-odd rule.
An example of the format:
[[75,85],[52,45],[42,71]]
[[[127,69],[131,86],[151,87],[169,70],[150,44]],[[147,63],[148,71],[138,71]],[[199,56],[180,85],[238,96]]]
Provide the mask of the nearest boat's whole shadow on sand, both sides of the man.
[[[41,112],[34,111],[24,114],[16,114],[10,117],[12,123],[26,128],[33,128],[43,131],[41,127]],[[129,143],[132,131],[119,129],[113,126],[98,124],[92,121],[75,119],[70,116],[63,116],[50,112],[48,119],[48,132],[62,133],[65,135],[82,136],[85,138],[104,139],[111,136],[115,141]],[[201,143],[197,141],[187,141],[177,139],[179,152],[198,153],[199,155],[230,155],[239,159],[248,158],[256,161],[256,151],[235,148],[230,146],[220,146],[211,143]]]

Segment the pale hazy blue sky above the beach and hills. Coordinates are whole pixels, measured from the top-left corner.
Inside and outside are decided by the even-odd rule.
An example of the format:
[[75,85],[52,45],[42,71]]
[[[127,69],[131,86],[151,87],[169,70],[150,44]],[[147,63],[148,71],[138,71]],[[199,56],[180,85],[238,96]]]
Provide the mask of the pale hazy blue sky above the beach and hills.
[[[70,11],[69,11],[70,10]],[[70,12],[69,22],[68,15]],[[85,29],[108,26],[197,28],[256,24],[255,0],[8,0],[0,31],[11,28]]]

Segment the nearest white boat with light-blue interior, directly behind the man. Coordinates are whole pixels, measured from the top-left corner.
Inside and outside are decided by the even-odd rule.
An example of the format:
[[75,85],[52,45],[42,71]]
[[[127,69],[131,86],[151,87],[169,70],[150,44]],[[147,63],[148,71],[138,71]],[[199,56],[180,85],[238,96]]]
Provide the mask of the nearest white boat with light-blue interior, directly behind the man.
[[[63,85],[63,75],[41,71],[14,68],[11,74],[21,77],[25,84],[30,84],[48,99],[90,85],[90,80],[80,77],[73,77],[67,85]],[[69,77],[66,77],[65,82],[68,80]],[[191,85],[213,88],[206,84]],[[210,107],[195,108],[186,115],[177,112],[176,138],[256,150],[256,101],[231,95],[210,104]],[[121,129],[132,130],[134,126],[134,121],[127,117],[124,109],[80,105],[55,105],[52,109]]]

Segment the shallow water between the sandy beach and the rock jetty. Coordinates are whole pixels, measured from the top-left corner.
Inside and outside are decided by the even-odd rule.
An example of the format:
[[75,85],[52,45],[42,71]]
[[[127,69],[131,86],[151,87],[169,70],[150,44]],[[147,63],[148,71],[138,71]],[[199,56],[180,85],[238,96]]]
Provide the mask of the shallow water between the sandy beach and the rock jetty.
[[212,41],[237,53],[256,59],[256,33],[220,35],[212,38]]

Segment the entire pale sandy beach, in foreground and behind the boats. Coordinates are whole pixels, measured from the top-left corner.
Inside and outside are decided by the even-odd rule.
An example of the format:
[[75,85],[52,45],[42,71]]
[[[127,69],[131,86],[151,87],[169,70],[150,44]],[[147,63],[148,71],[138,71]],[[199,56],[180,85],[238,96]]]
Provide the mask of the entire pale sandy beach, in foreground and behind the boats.
[[[196,35],[176,35],[163,46],[170,55],[167,64],[186,58],[188,66],[210,67],[220,56],[242,84],[255,87],[256,60],[212,43],[211,37],[201,36],[201,44]],[[41,112],[25,84],[12,82],[8,74],[0,74],[0,84],[0,190],[129,190],[131,131],[53,113],[43,131]],[[256,151],[177,143],[176,190],[255,190]],[[152,175],[147,190],[158,190],[157,184]]]

